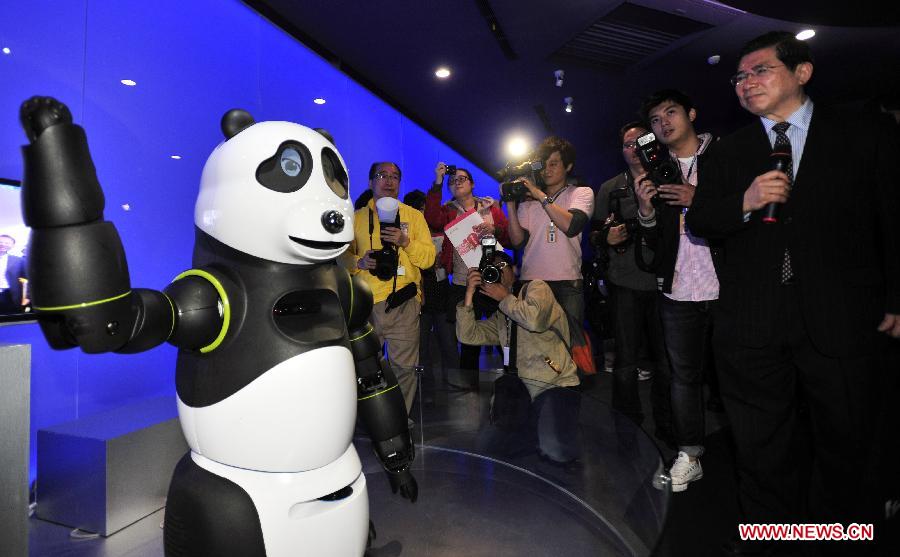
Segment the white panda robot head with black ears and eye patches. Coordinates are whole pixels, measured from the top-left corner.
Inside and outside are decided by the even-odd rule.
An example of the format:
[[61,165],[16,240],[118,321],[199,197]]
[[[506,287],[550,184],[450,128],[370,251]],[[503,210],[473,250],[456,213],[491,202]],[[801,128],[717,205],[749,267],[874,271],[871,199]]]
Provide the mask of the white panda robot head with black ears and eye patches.
[[236,249],[308,265],[336,258],[353,240],[347,167],[331,136],[242,110],[222,118],[225,141],[200,179],[194,223]]

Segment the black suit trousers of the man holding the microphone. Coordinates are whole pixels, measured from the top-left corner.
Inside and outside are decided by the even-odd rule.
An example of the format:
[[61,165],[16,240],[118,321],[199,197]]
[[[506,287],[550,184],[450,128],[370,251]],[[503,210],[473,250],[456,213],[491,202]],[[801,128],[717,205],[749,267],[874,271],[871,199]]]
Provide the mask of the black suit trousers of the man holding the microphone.
[[[770,345],[739,346],[721,334],[731,325],[724,313],[714,332],[742,521],[872,522],[861,503],[875,350],[822,354],[807,335],[796,287],[782,287],[779,297]],[[874,344],[874,327],[872,337]]]

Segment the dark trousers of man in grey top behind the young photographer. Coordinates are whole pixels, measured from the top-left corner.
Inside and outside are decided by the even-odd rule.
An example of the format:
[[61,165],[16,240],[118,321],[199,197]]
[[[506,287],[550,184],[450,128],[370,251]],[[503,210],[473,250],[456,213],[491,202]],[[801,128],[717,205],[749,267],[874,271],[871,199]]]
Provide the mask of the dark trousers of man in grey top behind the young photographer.
[[616,339],[616,360],[613,366],[613,408],[635,423],[644,421],[638,396],[638,347],[645,331],[649,350],[656,363],[650,400],[653,421],[658,434],[668,436],[671,431],[669,402],[669,361],[663,344],[658,294],[652,290],[632,290],[608,284],[612,305],[613,331]]

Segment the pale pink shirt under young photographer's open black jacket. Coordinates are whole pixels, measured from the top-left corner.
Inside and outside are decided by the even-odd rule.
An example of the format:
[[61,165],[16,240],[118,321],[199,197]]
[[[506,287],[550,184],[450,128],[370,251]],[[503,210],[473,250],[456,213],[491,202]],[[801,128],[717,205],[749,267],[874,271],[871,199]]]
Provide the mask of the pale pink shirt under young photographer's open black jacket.
[[[678,159],[681,175],[687,176],[692,186],[697,185],[697,158]],[[712,255],[706,240],[691,234],[684,225],[681,214],[681,238],[678,240],[678,258],[672,277],[672,293],[666,294],[680,302],[705,302],[719,298],[719,278],[712,263]]]

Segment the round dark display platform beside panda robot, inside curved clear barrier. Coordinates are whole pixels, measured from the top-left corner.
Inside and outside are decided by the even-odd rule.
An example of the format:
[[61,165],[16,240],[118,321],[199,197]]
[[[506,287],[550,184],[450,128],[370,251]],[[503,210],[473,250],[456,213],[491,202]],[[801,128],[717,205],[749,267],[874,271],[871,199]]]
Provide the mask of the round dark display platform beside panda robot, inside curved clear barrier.
[[[565,389],[559,406],[577,420],[574,429],[556,415],[541,422],[540,438],[528,424],[500,429],[490,423],[491,386],[500,373],[482,371],[477,382],[449,375],[420,377],[413,408],[417,503],[391,494],[369,441],[354,440],[377,532],[369,557],[652,553],[670,492],[659,451],[639,428],[589,394]],[[559,430],[566,450],[577,451],[574,462],[552,462],[538,450],[553,453]],[[32,519],[30,555],[160,557],[162,519],[154,513],[108,538],[86,540]]]

